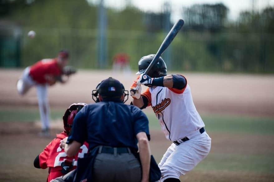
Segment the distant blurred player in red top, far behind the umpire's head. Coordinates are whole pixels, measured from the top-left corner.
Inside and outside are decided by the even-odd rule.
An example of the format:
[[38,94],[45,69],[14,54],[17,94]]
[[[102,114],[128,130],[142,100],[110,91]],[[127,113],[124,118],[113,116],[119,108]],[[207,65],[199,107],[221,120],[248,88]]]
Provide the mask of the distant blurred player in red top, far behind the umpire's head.
[[129,56],[126,53],[118,53],[113,57],[113,72],[130,74]]

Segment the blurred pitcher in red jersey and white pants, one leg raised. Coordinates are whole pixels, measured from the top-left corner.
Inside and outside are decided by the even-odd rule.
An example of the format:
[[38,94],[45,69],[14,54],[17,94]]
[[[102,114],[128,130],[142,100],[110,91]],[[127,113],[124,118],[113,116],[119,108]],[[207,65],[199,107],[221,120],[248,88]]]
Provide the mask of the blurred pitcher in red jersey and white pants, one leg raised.
[[[63,68],[68,63],[69,52],[61,50],[57,58],[42,59],[32,66],[27,67],[17,81],[17,91],[25,95],[32,86],[36,87],[36,94],[42,124],[41,136],[49,136],[50,108],[47,88],[59,81],[65,83],[68,79],[62,78]],[[67,77],[68,78],[68,77]]]

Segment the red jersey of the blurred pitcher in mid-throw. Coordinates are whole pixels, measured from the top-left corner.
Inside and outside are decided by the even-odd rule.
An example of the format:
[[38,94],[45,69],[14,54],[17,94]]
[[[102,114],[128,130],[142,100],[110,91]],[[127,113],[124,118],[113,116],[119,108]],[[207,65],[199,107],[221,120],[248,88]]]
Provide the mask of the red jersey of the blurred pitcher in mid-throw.
[[59,76],[61,70],[56,59],[42,59],[31,66],[30,76],[36,83],[45,84],[45,75]]

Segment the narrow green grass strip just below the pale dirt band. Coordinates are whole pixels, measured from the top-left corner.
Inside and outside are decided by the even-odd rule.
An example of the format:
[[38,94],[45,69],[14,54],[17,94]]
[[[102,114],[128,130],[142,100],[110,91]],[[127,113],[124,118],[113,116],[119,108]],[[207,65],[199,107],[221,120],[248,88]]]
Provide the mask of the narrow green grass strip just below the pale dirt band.
[[[62,119],[64,110],[50,111],[51,119]],[[145,111],[150,129],[161,129],[153,112]],[[40,119],[38,109],[0,108],[0,122],[33,122]],[[206,130],[214,133],[254,133],[274,135],[274,118],[229,114],[201,114]]]

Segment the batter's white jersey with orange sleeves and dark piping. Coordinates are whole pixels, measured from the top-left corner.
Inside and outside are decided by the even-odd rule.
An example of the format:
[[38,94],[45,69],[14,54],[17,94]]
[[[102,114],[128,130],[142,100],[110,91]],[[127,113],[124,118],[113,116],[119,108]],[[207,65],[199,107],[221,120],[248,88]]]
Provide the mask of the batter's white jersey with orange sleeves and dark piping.
[[149,105],[152,106],[166,139],[176,141],[204,127],[188,84],[181,90],[161,86],[149,87],[142,95],[147,97]]

